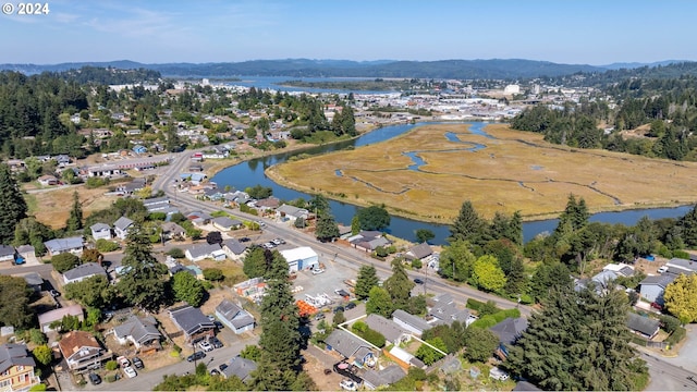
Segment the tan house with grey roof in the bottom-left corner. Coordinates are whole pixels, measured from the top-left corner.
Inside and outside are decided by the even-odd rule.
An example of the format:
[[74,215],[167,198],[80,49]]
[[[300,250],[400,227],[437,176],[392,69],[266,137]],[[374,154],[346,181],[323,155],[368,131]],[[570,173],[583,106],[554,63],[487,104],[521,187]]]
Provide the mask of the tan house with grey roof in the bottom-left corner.
[[34,373],[36,363],[24,344],[5,343],[0,345],[0,391],[28,391],[41,382]]

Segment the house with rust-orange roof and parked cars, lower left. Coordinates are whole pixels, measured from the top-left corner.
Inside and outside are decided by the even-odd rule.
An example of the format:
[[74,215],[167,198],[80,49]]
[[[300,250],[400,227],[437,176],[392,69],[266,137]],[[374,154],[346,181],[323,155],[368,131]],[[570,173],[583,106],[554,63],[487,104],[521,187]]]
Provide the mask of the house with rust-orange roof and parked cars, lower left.
[[68,332],[58,342],[58,347],[68,367],[76,372],[100,366],[102,360],[109,360],[113,356],[111,352],[101,347],[91,333],[85,331]]

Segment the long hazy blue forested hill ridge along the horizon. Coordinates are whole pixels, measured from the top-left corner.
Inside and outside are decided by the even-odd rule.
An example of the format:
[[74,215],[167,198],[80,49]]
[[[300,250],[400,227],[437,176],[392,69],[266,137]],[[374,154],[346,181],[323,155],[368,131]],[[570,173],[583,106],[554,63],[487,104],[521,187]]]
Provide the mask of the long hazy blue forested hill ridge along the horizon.
[[75,62],[51,65],[0,64],[0,70],[36,74],[60,72],[82,66],[147,69],[163,76],[362,76],[419,78],[529,78],[560,76],[576,72],[602,72],[604,69],[585,64],[557,64],[533,60],[441,60],[441,61],[351,61],[351,60],[253,60],[237,63],[164,63],[144,64],[129,60],[108,62]]

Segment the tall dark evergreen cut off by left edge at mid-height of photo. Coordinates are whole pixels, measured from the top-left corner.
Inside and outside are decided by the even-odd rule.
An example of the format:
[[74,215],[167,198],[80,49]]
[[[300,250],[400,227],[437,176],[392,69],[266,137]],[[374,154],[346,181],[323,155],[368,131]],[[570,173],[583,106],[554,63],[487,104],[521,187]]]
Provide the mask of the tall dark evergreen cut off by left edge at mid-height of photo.
[[26,218],[27,205],[22,191],[12,176],[10,167],[0,163],[0,244],[9,245],[14,238],[14,228]]

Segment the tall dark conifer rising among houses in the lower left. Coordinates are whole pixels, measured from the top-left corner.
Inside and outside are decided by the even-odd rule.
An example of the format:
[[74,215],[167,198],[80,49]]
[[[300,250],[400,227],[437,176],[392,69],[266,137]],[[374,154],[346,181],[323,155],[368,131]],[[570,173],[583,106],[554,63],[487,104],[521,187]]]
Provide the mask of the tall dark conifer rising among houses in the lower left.
[[126,247],[121,261],[126,267],[117,289],[131,305],[157,310],[167,302],[164,275],[167,267],[152,256],[152,245],[140,221],[135,221],[126,236]]

